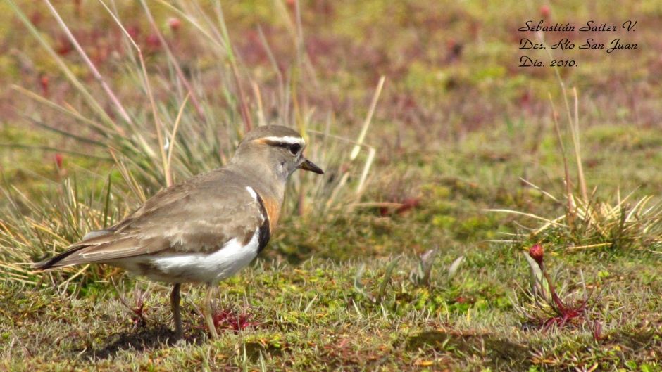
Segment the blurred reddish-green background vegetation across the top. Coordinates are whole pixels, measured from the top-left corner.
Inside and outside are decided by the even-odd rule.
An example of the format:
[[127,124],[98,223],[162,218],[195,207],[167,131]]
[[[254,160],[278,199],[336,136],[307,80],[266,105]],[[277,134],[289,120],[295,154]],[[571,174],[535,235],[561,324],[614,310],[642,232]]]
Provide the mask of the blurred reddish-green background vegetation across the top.
[[[139,116],[149,115],[149,100],[131,81],[136,79],[135,70],[127,68],[127,62],[134,62],[135,51],[108,12],[96,1],[54,4],[120,101],[139,119],[149,120]],[[224,22],[238,60],[238,83],[225,75],[227,65],[232,63],[230,56],[220,55],[225,51],[211,47],[215,42],[170,6],[160,1],[149,3],[158,32],[139,2],[119,1],[115,11],[142,49],[148,72],[156,79],[152,83],[156,101],[178,108],[186,93],[181,90],[181,82],[170,79],[169,75],[176,72],[162,44],[165,41],[182,73],[196,84],[199,90],[196,96],[204,97],[208,103],[206,120],[217,125],[241,121],[240,117],[218,115],[228,107],[235,110],[235,103],[227,102],[227,92],[236,98],[238,85],[242,86],[252,122],[258,122],[256,113],[260,104],[254,85],[261,92],[264,120],[291,119],[287,111],[292,111],[292,107],[283,107],[280,102],[288,98],[294,101],[279,86],[287,84],[285,89],[296,95],[296,115],[306,117],[318,127],[322,125],[318,123],[332,121],[333,134],[354,138],[366,117],[375,86],[384,75],[387,82],[368,137],[370,143],[380,148],[377,159],[381,164],[396,162],[410,153],[420,156],[434,152],[440,143],[464,139],[477,129],[486,132],[506,129],[512,136],[527,130],[549,129],[551,107],[547,95],[560,98],[554,69],[517,67],[522,54],[547,59],[542,51],[518,51],[521,37],[534,39],[531,34],[517,31],[529,19],[575,25],[593,18],[611,23],[626,18],[637,20],[637,30],[622,35],[639,44],[636,50],[611,54],[577,50],[554,53],[559,59],[577,60],[576,68],[562,68],[559,72],[567,86],[576,86],[580,92],[582,127],[609,124],[646,131],[661,121],[657,109],[662,77],[656,73],[662,69],[656,53],[661,48],[656,37],[662,12],[658,1],[614,1],[608,5],[573,1],[553,5],[517,1],[505,4],[311,1],[300,4],[299,15],[295,5],[296,2],[290,1],[223,4]],[[23,115],[36,115],[40,122],[51,127],[66,130],[73,126],[69,117],[25,99],[13,89],[14,84],[58,104],[73,105],[77,110],[85,108],[79,107],[79,92],[63,76],[53,58],[26,31],[10,6],[1,6],[0,82],[6,87],[0,97],[2,143],[62,150],[75,147],[77,152],[107,158],[104,148],[81,148],[79,141],[34,130],[35,124],[25,120]],[[208,14],[210,22],[218,20],[213,6],[200,6],[204,6],[201,13],[192,15],[196,22],[207,27],[201,14]],[[73,74],[106,105],[104,108],[111,115],[116,115],[48,8],[39,1],[25,2],[20,8]],[[580,40],[585,35],[561,33],[547,39],[568,36]],[[602,42],[612,37],[606,33],[590,36]],[[173,88],[180,91],[171,94]],[[172,125],[174,118],[168,119]],[[186,130],[185,125],[182,128]],[[94,135],[89,126],[77,130],[83,136]],[[606,139],[600,145],[634,146],[627,136],[619,135],[623,130],[602,129],[604,133],[597,135]],[[221,144],[229,146],[229,143]],[[2,150],[2,166],[12,183],[30,184],[40,179],[37,176],[53,179],[53,158],[52,152],[6,147]],[[65,157],[65,162],[72,167],[85,165],[88,169],[89,162],[99,163],[77,156]],[[614,167],[616,172],[627,172],[618,169]],[[623,175],[613,174],[613,178]],[[41,181],[37,183],[42,184]],[[644,186],[651,188],[650,191],[659,190],[653,184]]]

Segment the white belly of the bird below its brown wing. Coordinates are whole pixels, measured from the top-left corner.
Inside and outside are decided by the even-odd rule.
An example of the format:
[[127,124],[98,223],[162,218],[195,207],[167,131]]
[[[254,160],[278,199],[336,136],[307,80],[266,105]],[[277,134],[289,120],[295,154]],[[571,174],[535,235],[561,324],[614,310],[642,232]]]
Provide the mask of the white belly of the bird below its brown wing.
[[[217,252],[209,254],[144,257],[141,261],[157,270],[140,274],[156,281],[216,283],[236,274],[253,261],[258,255],[258,236],[259,230],[256,230],[248,244],[243,245],[237,239],[232,239]],[[129,266],[126,268],[131,270]]]

